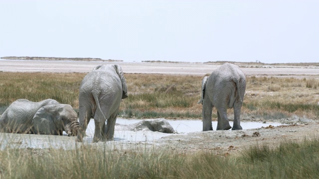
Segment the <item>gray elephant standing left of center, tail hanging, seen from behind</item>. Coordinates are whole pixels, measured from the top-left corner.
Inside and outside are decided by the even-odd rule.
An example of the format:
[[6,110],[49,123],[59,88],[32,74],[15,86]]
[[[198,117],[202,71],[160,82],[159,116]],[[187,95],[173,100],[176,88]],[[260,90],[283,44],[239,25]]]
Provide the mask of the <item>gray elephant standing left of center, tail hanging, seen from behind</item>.
[[84,77],[79,91],[80,127],[76,141],[83,142],[91,117],[95,124],[93,142],[113,140],[120,103],[128,97],[122,68],[119,65],[96,66]]

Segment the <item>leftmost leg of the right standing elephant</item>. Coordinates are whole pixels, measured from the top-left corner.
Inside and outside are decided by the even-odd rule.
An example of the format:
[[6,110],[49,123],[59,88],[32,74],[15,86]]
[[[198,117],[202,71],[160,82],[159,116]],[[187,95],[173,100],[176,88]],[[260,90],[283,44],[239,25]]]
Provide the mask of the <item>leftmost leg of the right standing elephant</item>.
[[213,104],[208,97],[203,99],[203,131],[213,130],[211,123],[211,111],[213,109]]

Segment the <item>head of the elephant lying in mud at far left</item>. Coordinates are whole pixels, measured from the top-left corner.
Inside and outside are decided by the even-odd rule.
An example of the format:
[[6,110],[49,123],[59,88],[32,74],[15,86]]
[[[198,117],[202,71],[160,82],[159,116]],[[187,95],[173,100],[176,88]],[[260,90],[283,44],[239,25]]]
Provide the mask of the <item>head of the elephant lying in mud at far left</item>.
[[68,104],[55,104],[41,107],[32,120],[35,134],[76,136],[79,128],[77,114]]

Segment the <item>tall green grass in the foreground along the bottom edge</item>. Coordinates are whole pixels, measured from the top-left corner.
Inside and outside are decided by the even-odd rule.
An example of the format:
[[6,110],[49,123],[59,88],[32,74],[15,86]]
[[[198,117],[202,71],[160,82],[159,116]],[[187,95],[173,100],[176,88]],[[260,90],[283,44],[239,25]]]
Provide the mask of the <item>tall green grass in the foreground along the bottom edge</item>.
[[214,152],[183,154],[167,150],[111,151],[92,146],[76,150],[0,151],[3,179],[274,179],[319,178],[319,141],[252,146],[237,157]]

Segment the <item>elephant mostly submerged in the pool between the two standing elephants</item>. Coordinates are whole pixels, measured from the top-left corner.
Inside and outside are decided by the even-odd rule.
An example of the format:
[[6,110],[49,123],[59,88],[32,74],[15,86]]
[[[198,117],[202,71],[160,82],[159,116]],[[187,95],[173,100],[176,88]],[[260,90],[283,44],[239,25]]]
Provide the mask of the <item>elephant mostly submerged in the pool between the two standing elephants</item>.
[[153,119],[142,120],[134,124],[117,124],[115,125],[115,131],[153,131],[162,133],[176,133],[173,127],[166,119]]

